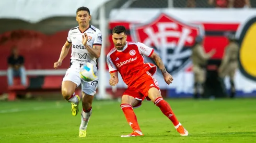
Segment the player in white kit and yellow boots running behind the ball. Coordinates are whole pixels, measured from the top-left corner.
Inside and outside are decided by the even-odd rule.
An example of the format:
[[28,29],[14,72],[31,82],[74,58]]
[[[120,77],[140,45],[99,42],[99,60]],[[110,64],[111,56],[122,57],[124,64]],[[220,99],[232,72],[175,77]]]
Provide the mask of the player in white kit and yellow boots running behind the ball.
[[76,10],[76,21],[79,26],[68,32],[67,41],[62,47],[60,58],[54,63],[54,68],[61,66],[63,59],[72,48],[71,66],[66,71],[62,82],[62,96],[68,102],[71,102],[72,115],[78,113],[79,96],[75,95],[75,89],[82,83],[83,92],[83,111],[81,113],[82,123],[79,128],[78,137],[86,137],[86,128],[91,116],[91,104],[96,93],[98,79],[91,82],[85,82],[80,79],[79,70],[86,62],[97,64],[100,57],[102,36],[100,30],[89,24],[91,19],[90,10],[87,7],[79,7]]

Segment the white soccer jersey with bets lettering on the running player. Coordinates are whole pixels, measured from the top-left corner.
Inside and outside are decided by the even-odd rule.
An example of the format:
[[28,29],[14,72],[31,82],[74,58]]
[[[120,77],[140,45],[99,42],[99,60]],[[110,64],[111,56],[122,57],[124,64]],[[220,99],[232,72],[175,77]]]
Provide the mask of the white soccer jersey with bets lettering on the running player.
[[[89,25],[89,28],[85,31],[88,35],[87,45],[101,45],[102,44],[102,35],[99,29],[95,28],[92,25]],[[92,56],[85,46],[82,43],[83,32],[79,30],[79,27],[75,27],[68,32],[67,42],[72,43],[72,53],[71,53],[71,62],[86,63],[90,62],[92,64],[97,64],[94,56]]]

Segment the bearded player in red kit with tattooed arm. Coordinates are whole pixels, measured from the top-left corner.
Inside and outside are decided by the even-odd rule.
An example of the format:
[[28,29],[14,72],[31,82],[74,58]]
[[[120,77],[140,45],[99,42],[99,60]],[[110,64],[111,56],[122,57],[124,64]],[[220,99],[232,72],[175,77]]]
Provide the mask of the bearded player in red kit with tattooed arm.
[[[169,103],[162,99],[157,80],[153,77],[158,67],[167,84],[171,84],[173,81],[173,77],[166,71],[161,58],[154,52],[153,48],[139,42],[127,42],[126,38],[126,30],[123,26],[114,27],[112,40],[115,47],[107,55],[111,75],[109,84],[111,86],[118,84],[119,72],[128,86],[122,96],[120,107],[133,132],[121,137],[143,136],[133,108],[141,106],[145,98],[152,100],[160,108],[181,136],[188,136],[189,132],[177,120]],[[152,58],[157,67],[152,63],[144,63],[143,55]]]

